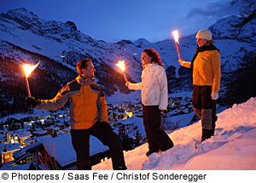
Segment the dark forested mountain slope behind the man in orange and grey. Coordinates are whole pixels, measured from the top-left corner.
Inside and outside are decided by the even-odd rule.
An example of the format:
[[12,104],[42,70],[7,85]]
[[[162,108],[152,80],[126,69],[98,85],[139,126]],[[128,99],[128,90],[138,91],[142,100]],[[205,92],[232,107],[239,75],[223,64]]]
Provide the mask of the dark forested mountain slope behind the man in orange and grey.
[[[26,77],[22,69],[22,64],[25,61],[20,59],[21,55],[28,55],[29,63],[32,64],[40,61],[39,66],[28,77],[31,94],[37,99],[53,99],[66,83],[78,76],[75,69],[68,68],[44,55],[32,53],[6,42],[2,42],[1,47],[5,47],[5,49],[0,49],[0,117],[32,110],[26,106]],[[99,78],[97,83],[101,85],[106,95],[114,94],[118,89],[126,94],[131,92],[125,87],[122,74],[114,71],[107,64],[103,64],[104,62],[99,62],[90,54],[84,54],[78,60],[87,57],[96,66],[96,77]],[[128,79],[130,78],[128,77]],[[132,80],[130,81],[132,82]]]

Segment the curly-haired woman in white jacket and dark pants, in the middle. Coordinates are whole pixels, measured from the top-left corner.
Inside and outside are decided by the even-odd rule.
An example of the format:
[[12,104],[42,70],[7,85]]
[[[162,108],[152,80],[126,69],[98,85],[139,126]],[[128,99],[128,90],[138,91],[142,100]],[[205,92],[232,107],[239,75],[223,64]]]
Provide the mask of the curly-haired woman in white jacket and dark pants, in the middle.
[[143,74],[141,83],[127,82],[129,89],[142,90],[143,124],[148,139],[146,156],[164,152],[173,146],[172,140],[160,129],[160,111],[168,105],[166,71],[159,54],[154,49],[144,49],[142,54]]

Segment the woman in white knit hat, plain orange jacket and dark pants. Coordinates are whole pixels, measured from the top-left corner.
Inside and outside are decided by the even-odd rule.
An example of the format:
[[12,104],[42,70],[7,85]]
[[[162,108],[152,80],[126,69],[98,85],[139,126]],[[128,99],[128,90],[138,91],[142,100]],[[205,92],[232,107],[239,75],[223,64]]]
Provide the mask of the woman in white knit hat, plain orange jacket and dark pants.
[[193,71],[192,105],[196,116],[201,118],[201,142],[214,135],[216,116],[216,101],[220,85],[220,54],[213,45],[212,32],[207,29],[196,34],[198,44],[192,62],[178,60],[181,66]]

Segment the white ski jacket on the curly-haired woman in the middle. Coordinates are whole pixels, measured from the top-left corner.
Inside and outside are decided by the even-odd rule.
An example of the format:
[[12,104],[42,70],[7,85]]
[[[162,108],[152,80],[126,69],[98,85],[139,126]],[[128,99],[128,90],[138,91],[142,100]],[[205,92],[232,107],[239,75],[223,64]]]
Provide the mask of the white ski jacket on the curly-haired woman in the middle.
[[144,106],[159,106],[166,110],[168,105],[168,86],[166,71],[157,63],[148,64],[143,70],[141,83],[129,83],[129,89],[142,90]]

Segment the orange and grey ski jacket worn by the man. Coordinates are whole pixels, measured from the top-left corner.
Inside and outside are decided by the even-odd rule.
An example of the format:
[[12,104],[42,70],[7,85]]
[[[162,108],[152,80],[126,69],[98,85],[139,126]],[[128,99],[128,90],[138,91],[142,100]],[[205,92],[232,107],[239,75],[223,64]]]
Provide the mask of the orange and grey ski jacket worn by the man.
[[40,100],[36,108],[54,111],[69,101],[70,129],[90,129],[97,121],[108,122],[107,103],[101,87],[90,78],[77,77],[53,100]]

